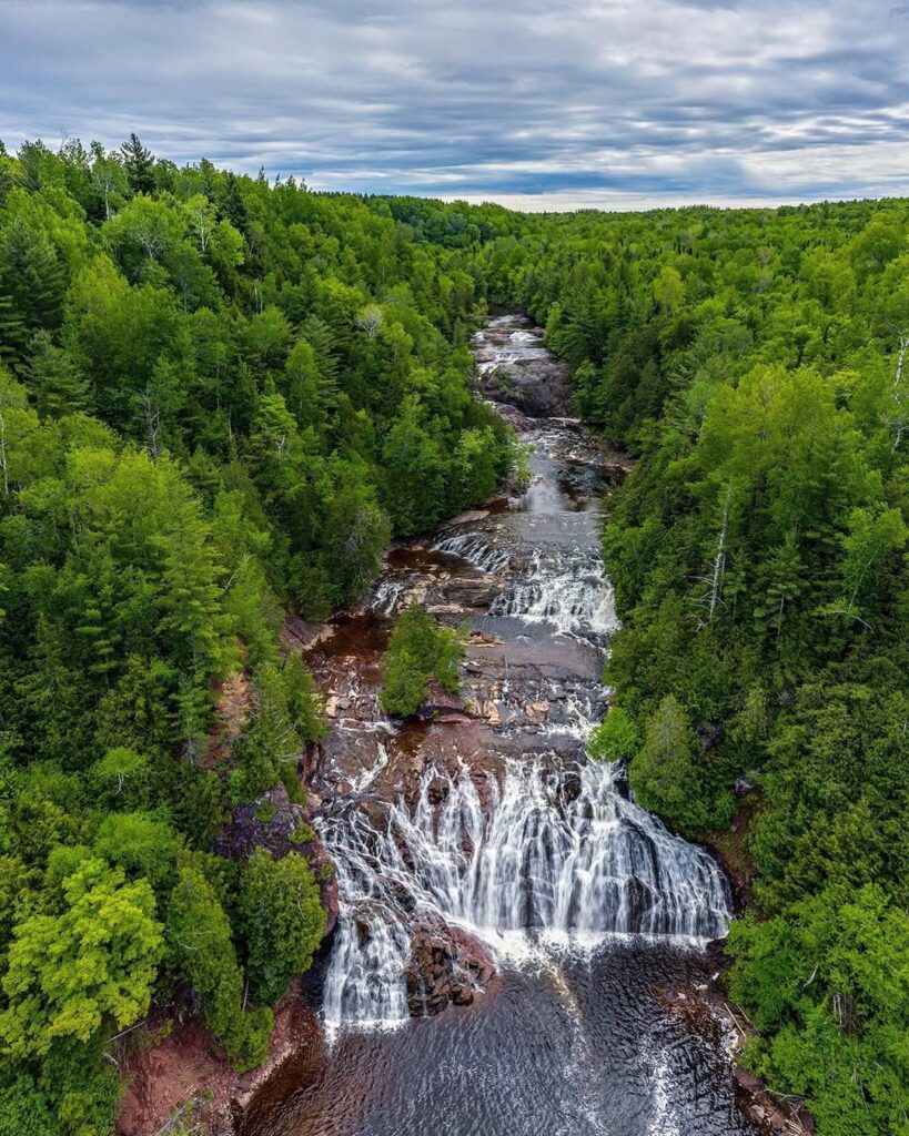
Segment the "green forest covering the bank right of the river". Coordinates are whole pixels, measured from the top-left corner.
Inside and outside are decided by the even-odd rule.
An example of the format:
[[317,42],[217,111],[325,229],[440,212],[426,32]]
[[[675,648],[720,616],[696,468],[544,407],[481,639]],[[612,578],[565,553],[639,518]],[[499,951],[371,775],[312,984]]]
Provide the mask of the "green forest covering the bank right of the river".
[[731,988],[822,1136],[906,1129],[907,236],[906,201],[824,202],[526,218],[478,254],[639,459],[591,749],[691,835],[758,784]]

